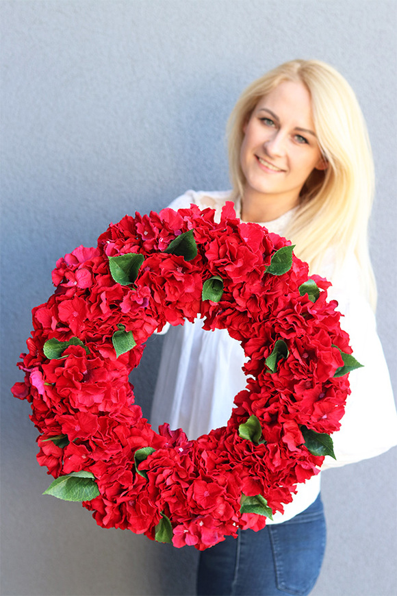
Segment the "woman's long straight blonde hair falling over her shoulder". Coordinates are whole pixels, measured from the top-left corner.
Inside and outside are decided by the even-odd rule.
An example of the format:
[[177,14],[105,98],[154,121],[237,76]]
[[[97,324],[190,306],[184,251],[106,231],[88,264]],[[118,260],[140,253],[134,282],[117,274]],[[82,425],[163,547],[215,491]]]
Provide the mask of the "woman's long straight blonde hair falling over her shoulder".
[[296,254],[320,271],[324,253],[335,251],[335,274],[353,251],[363,287],[375,307],[376,286],[368,250],[368,222],[374,197],[374,164],[366,123],[355,93],[332,66],[319,60],[292,60],[255,80],[240,96],[228,123],[233,198],[243,197],[240,164],[243,127],[257,102],[283,81],[305,84],[311,94],[313,122],[328,161],[314,170],[300,193],[300,206],[286,236]]

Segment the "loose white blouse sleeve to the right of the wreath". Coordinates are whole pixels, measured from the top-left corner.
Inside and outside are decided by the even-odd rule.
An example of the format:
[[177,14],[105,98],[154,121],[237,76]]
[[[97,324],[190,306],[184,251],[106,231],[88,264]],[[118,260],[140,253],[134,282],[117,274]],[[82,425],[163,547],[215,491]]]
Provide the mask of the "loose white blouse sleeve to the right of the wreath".
[[397,445],[389,371],[374,312],[360,287],[359,266],[352,257],[329,288],[329,297],[338,301],[338,310],[344,315],[341,327],[348,332],[353,355],[363,367],[349,375],[351,394],[340,431],[332,435],[336,460],[327,456],[322,469],[372,458]]

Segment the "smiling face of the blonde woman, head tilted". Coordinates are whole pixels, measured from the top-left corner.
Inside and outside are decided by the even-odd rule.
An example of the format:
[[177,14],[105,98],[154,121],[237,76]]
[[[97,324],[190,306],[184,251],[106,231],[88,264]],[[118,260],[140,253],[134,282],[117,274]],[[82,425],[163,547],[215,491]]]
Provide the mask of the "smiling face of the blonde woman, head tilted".
[[240,162],[244,199],[298,203],[313,169],[325,169],[314,131],[311,97],[300,82],[285,81],[262,97],[244,125]]

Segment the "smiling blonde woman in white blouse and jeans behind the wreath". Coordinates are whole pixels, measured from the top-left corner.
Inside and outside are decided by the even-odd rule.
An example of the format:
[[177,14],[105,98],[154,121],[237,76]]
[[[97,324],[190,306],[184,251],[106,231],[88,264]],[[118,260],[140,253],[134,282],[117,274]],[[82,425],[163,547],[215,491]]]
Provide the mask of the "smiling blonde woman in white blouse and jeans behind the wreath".
[[[374,189],[370,144],[357,99],[345,79],[316,60],[293,60],[253,82],[229,121],[233,190],[189,191],[174,209],[196,203],[219,214],[235,202],[242,221],[265,225],[296,245],[311,273],[331,282],[355,357],[352,395],[336,461],[323,469],[379,455],[396,444],[396,410],[376,335],[376,290],[368,253]],[[227,423],[245,386],[244,353],[227,330],[200,321],[168,331],[153,403],[153,425],[168,421],[189,438]],[[376,408],[373,407],[376,396]],[[376,410],[376,411],[374,411]],[[368,437],[371,436],[371,440]],[[201,595],[308,594],[320,572],[325,524],[320,475],[298,486],[283,514],[264,530],[240,532],[201,553]]]

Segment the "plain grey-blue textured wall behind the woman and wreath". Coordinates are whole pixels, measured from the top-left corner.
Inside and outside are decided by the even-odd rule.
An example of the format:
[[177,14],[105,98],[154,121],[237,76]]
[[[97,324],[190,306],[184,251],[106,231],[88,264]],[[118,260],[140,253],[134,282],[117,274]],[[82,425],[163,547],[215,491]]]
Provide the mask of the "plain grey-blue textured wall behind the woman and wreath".
[[[192,594],[196,551],[103,530],[79,504],[41,496],[50,478],[29,405],[9,389],[22,380],[31,308],[53,292],[57,258],[93,245],[110,221],[187,188],[228,188],[224,128],[242,88],[285,60],[320,58],[353,85],[370,129],[379,332],[396,383],[396,3],[3,0],[0,10],[1,593]],[[134,377],[146,413],[160,343]],[[396,594],[395,472],[396,450],[324,473],[329,544],[314,595]]]

